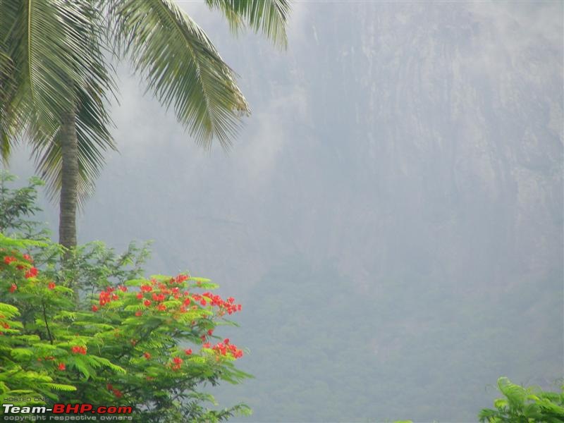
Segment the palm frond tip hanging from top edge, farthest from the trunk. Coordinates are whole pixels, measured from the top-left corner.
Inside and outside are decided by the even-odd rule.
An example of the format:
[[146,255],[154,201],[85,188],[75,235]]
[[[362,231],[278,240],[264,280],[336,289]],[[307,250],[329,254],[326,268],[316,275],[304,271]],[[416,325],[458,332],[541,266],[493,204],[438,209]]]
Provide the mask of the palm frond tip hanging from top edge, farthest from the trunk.
[[249,26],[255,32],[262,31],[274,44],[286,48],[286,25],[290,16],[288,0],[206,0],[210,8],[217,8],[225,15],[231,30]]

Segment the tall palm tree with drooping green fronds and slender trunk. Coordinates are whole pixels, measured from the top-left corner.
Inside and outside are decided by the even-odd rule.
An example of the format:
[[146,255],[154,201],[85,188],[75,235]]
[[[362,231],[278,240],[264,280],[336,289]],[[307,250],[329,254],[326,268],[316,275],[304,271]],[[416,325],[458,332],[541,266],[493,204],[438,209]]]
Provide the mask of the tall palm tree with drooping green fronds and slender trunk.
[[[231,29],[262,31],[286,47],[289,0],[204,0]],[[231,68],[171,0],[0,0],[0,154],[32,145],[51,199],[59,243],[76,245],[77,206],[116,149],[106,110],[116,95],[109,54],[128,59],[195,141],[231,145],[249,114]]]

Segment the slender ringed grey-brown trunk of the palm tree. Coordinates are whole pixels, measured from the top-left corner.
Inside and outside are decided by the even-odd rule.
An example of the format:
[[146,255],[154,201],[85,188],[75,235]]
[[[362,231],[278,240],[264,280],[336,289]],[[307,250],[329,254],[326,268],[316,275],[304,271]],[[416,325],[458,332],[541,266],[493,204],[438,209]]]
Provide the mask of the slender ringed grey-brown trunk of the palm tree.
[[61,202],[59,244],[76,246],[76,203],[78,194],[78,138],[73,108],[63,116],[61,128]]

